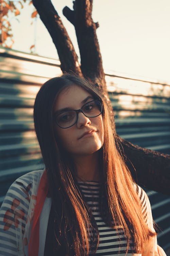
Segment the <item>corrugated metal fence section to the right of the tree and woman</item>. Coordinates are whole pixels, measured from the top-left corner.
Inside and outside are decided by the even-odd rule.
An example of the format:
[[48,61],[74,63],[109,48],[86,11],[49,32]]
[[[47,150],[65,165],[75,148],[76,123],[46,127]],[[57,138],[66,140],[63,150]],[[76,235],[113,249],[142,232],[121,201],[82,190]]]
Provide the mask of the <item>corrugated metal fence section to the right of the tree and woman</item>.
[[[115,112],[117,133],[141,147],[170,154],[170,86],[106,76]],[[160,231],[158,243],[170,256],[170,197],[144,188],[154,221]]]

